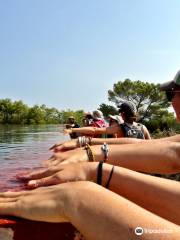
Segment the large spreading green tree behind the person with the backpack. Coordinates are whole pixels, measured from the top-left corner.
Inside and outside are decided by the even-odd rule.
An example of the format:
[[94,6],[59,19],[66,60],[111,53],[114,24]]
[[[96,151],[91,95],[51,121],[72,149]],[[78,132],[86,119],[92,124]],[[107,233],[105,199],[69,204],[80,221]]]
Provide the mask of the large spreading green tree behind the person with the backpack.
[[[159,91],[159,84],[125,79],[113,85],[113,90],[108,91],[108,99],[116,106],[125,100],[132,101],[137,107],[139,122],[151,132],[157,129],[169,131],[175,126],[174,115],[167,110],[170,104],[164,92]],[[100,110],[105,116],[117,114],[116,108],[104,103],[100,105]]]

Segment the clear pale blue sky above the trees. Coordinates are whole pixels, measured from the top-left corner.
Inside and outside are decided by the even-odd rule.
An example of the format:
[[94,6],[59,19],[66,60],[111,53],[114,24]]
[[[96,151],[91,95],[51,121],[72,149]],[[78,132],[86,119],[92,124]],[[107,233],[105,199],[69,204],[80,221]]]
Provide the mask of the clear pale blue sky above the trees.
[[0,98],[96,109],[180,68],[179,0],[0,0]]

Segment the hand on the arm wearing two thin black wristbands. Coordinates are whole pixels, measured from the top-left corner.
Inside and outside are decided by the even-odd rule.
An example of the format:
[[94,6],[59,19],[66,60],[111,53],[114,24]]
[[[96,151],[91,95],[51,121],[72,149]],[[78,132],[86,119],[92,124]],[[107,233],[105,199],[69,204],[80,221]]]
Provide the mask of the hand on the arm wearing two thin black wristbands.
[[84,162],[73,164],[59,164],[47,169],[35,170],[17,176],[19,179],[30,180],[28,188],[37,188],[48,185],[55,185],[71,181],[96,181],[96,162]]

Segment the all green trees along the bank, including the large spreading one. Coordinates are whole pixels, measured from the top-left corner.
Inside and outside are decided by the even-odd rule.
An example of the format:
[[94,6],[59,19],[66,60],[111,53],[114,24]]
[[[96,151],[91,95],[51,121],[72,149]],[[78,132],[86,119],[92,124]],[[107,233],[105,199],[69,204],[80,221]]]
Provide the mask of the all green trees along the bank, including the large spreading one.
[[[170,103],[164,92],[159,91],[158,84],[130,79],[118,81],[108,91],[108,100],[110,104],[102,103],[98,108],[107,119],[109,114],[118,114],[118,105],[128,100],[137,107],[138,121],[145,124],[151,133],[180,132],[174,113],[169,111]],[[22,101],[0,99],[0,124],[64,124],[71,115],[82,123],[83,110],[58,110],[44,104],[29,107]]]

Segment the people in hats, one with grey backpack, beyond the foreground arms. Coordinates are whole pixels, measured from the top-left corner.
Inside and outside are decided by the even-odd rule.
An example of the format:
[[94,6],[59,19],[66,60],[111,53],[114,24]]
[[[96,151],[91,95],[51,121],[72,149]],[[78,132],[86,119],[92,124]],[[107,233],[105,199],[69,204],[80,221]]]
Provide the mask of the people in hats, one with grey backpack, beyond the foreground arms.
[[[124,101],[119,106],[119,116],[110,115],[109,125],[105,122],[101,111],[96,110],[92,115],[90,113],[86,115],[92,117],[92,122],[85,127],[77,128],[72,127],[66,129],[65,133],[72,136],[73,134],[88,135],[94,137],[114,137],[114,138],[139,138],[139,139],[151,139],[147,128],[140,123],[137,123],[137,109],[133,102]],[[78,136],[79,136],[78,135]],[[71,137],[72,138],[72,137]]]

